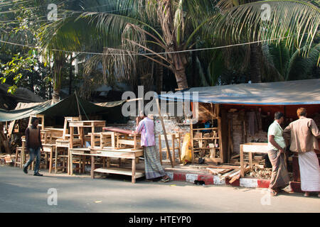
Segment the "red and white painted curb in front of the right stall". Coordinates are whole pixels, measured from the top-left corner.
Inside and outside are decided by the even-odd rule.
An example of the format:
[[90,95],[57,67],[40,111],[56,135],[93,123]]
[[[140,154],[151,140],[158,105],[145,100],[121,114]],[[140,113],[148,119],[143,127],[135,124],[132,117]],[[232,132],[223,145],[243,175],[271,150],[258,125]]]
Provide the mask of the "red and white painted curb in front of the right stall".
[[206,185],[232,185],[236,187],[251,187],[251,188],[268,188],[270,179],[256,179],[256,178],[240,178],[232,184],[229,179],[220,179],[217,175],[198,175],[194,173],[185,172],[166,172],[169,177],[175,181],[194,183],[195,180],[203,181]]

